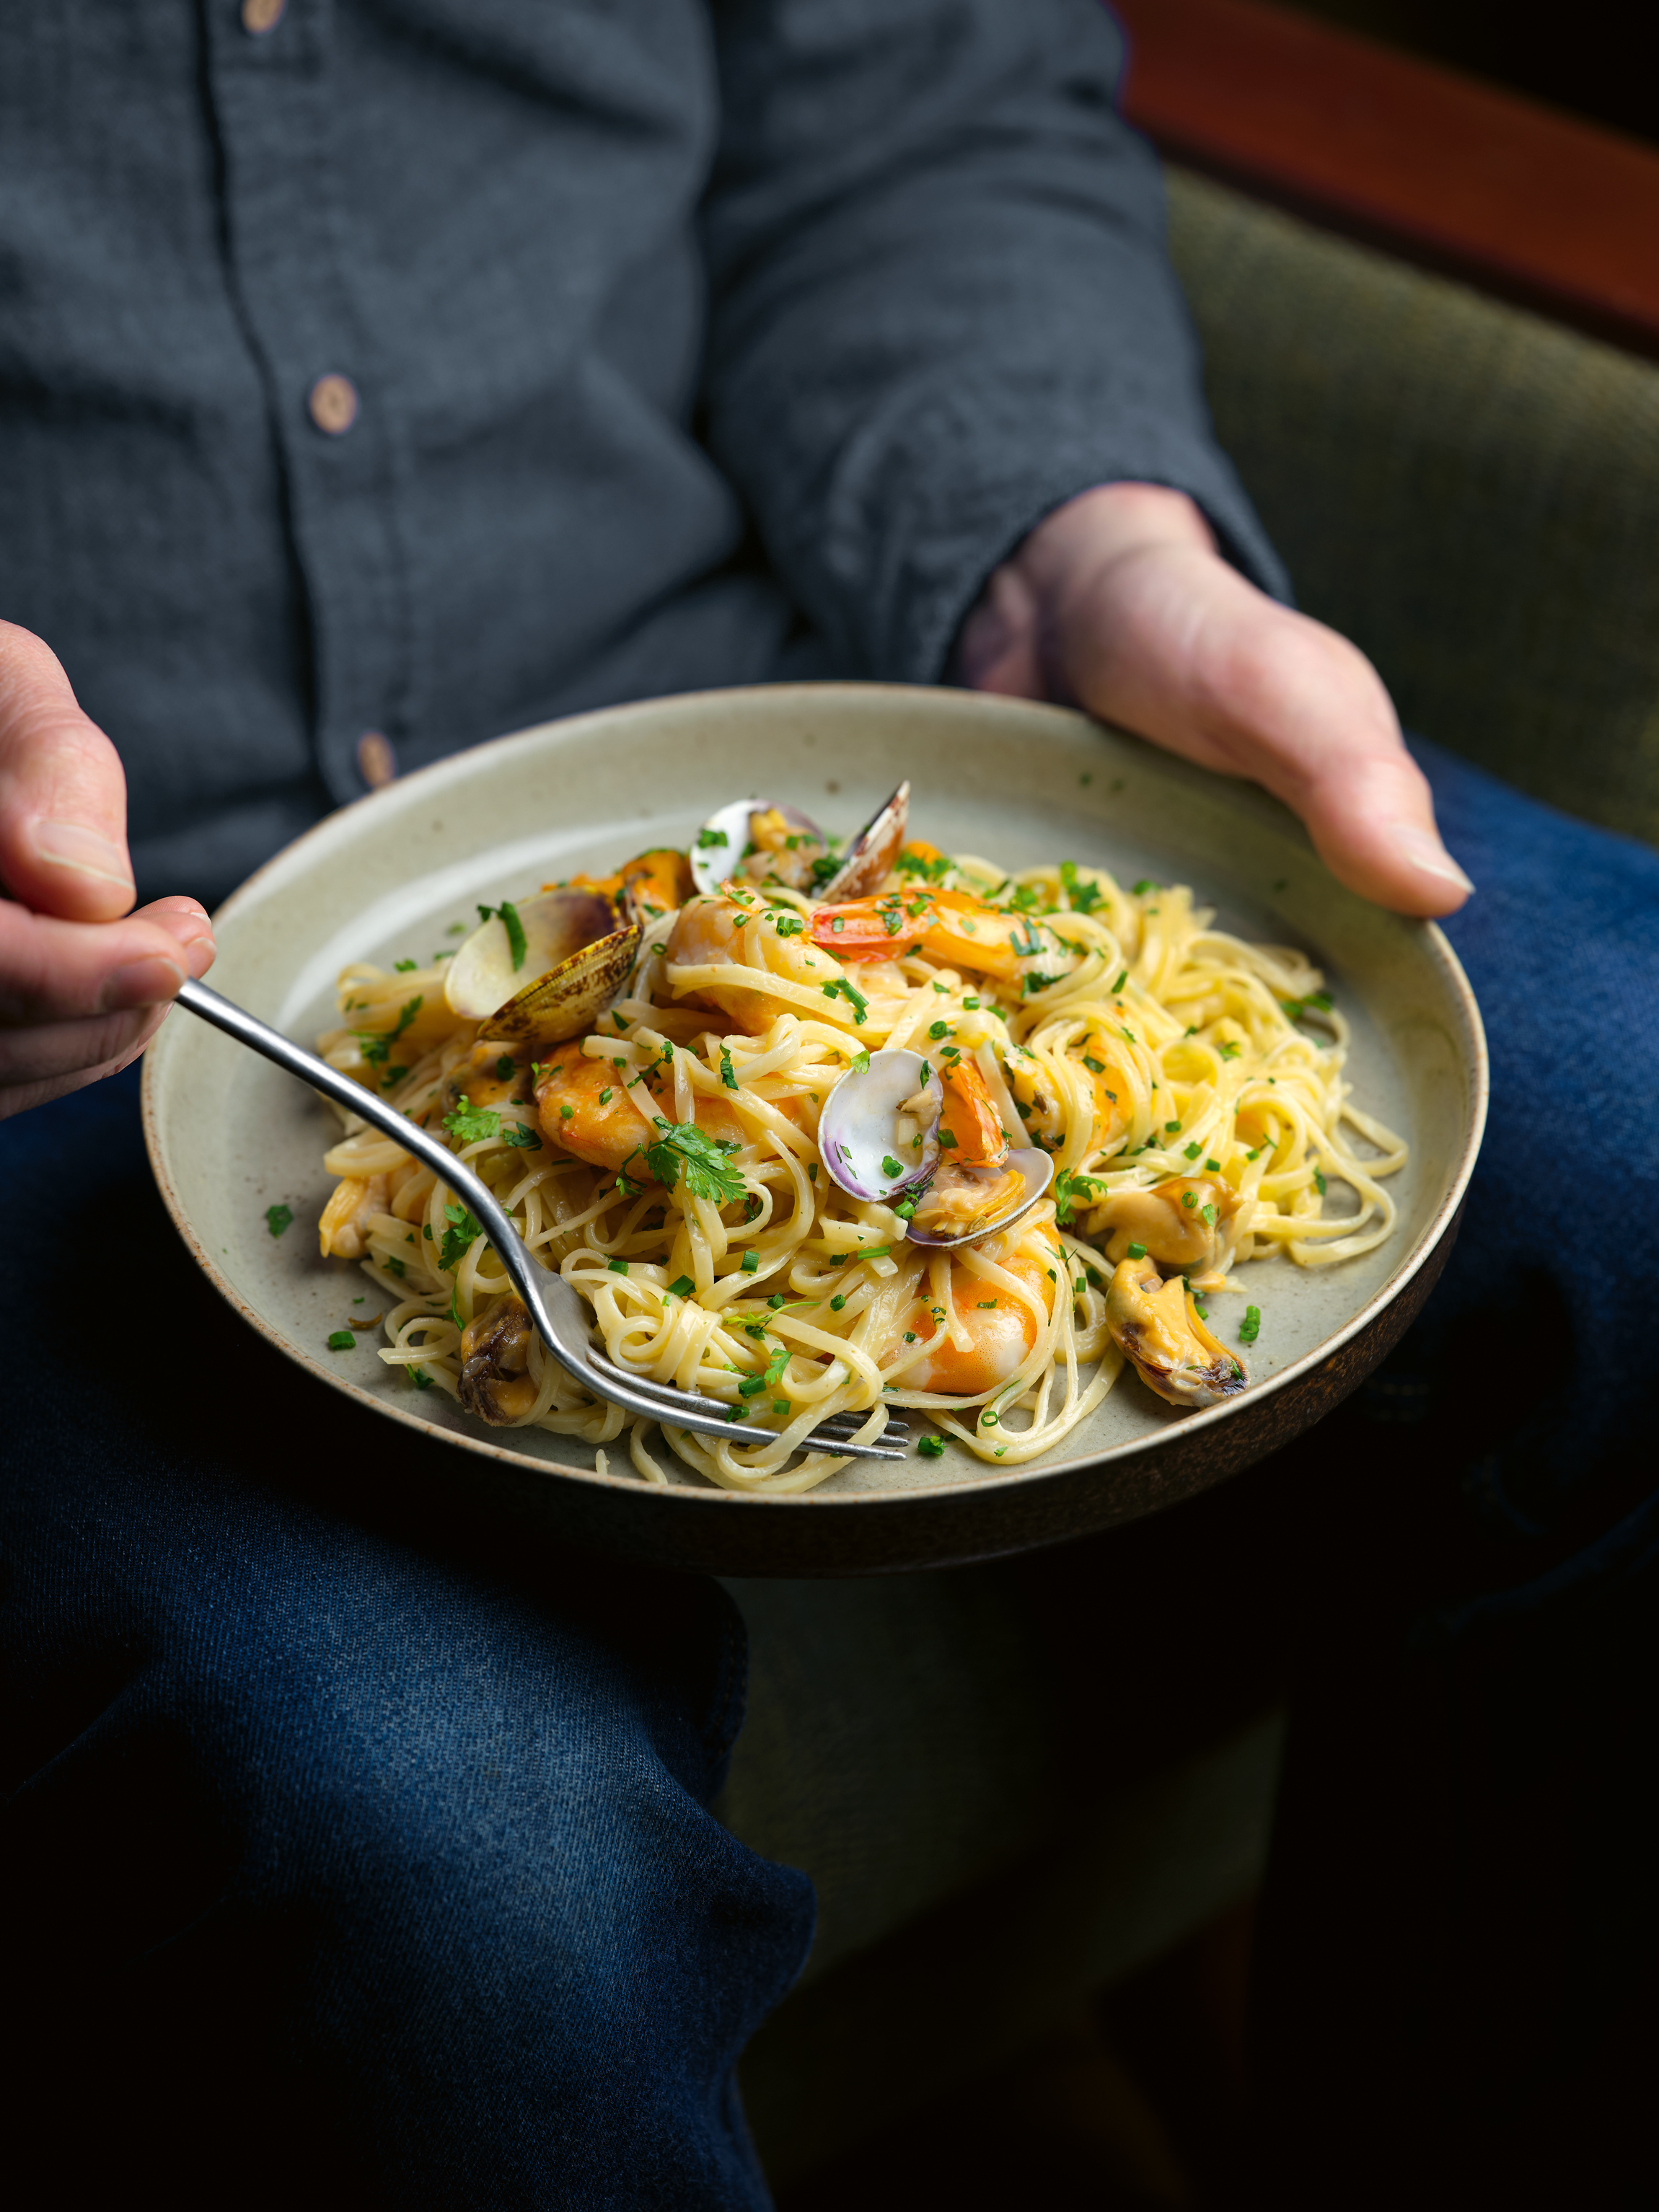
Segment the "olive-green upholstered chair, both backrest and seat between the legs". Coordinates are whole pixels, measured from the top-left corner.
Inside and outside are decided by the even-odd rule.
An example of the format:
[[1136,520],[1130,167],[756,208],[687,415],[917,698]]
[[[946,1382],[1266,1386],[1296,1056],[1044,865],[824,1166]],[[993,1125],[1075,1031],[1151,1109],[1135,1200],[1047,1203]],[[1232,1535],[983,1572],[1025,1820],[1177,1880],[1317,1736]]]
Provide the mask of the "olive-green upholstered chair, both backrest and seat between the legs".
[[[1659,369],[1194,177],[1170,177],[1170,243],[1217,429],[1301,604],[1374,657],[1409,728],[1659,843]],[[1088,1681],[1015,1568],[732,1590],[752,1690],[719,1812],[821,1898],[803,1982],[743,2064],[774,2181],[1259,1882],[1270,1679],[1219,1694],[1208,1741],[1192,1710],[1128,1741],[1133,1661]]]

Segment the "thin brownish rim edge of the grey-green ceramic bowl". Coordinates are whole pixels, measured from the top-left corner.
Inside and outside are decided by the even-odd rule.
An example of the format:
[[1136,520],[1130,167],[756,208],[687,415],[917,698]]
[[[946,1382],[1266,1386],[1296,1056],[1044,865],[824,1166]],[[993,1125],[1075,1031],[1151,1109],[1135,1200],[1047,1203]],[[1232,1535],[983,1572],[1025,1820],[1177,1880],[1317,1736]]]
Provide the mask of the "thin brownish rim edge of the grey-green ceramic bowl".
[[[296,854],[307,849],[325,852],[330,845],[338,841],[349,843],[352,836],[349,825],[356,818],[361,818],[365,807],[387,807],[392,803],[403,805],[411,794],[425,794],[453,781],[458,774],[467,770],[469,763],[473,763],[484,752],[500,757],[513,750],[533,750],[535,743],[544,739],[549,730],[577,732],[582,730],[582,726],[595,726],[595,723],[602,723],[606,730],[617,730],[628,721],[644,721],[657,717],[664,712],[664,708],[677,708],[690,703],[697,703],[699,708],[719,710],[723,703],[737,703],[737,701],[743,701],[743,708],[752,708],[757,699],[785,706],[790,701],[823,699],[825,695],[836,695],[841,699],[863,697],[872,701],[880,699],[914,701],[918,697],[938,697],[942,690],[945,690],[942,686],[931,686],[931,684],[865,684],[865,681],[743,684],[743,686],[723,686],[719,690],[666,692],[653,699],[628,699],[622,701],[619,706],[591,708],[580,714],[557,714],[549,721],[531,723],[522,730],[509,730],[502,737],[484,739],[478,745],[467,745],[458,752],[445,754],[438,761],[429,761],[425,768],[414,768],[409,770],[407,776],[398,776],[394,783],[387,783],[380,790],[365,792],[361,799],[354,799],[347,805],[336,807],[332,814],[325,814],[323,821],[312,823],[310,830],[303,830],[296,838],[283,845],[281,852],[274,852],[268,860],[263,860],[252,872],[252,876],[248,876],[230,894],[230,898],[226,898],[226,902],[215,909],[212,916],[215,933],[223,922],[234,920],[243,907],[252,905],[265,880],[279,867],[285,869],[288,865],[292,865]],[[1093,717],[1079,714],[1071,708],[1048,706],[1046,701],[1037,699],[1004,699],[1000,695],[987,695],[987,692],[947,692],[947,697],[964,706],[969,701],[982,699],[984,703],[995,703],[998,708],[1022,708],[1029,714],[1053,717],[1057,723],[1068,723],[1073,728],[1082,723],[1097,730],[1110,728],[1113,734],[1117,737],[1130,737],[1130,739],[1135,737],[1135,732],[1115,730],[1115,726],[1110,723],[1099,723]],[[1139,743],[1144,743],[1144,739]],[[1290,810],[1285,810],[1285,816],[1287,821],[1294,821]],[[1411,920],[1411,918],[1400,916],[1400,920]],[[1168,1422],[1166,1427],[1157,1429],[1150,1436],[1126,1438],[1121,1444],[1110,1444],[1106,1451],[1099,1451],[1082,1462],[1077,1458],[1062,1455],[1051,1462],[1037,1460],[1029,1467],[1011,1467],[1000,1473],[987,1471],[984,1475],[978,1478],[967,1475],[956,1482],[929,1482],[891,1491],[825,1493],[818,1489],[818,1491],[799,1491],[779,1495],[768,1491],[726,1491],[712,1482],[708,1484],[670,1482],[664,1486],[659,1482],[648,1482],[633,1469],[628,1473],[615,1471],[602,1475],[595,1467],[566,1467],[562,1460],[531,1458],[529,1453],[513,1451],[509,1444],[498,1444],[489,1436],[469,1436],[465,1431],[447,1429],[434,1420],[427,1420],[414,1407],[405,1409],[398,1405],[387,1405],[385,1398],[376,1398],[374,1391],[365,1389],[361,1383],[354,1383],[338,1367],[325,1367],[314,1354],[305,1352],[301,1345],[283,1336],[283,1332],[276,1329],[270,1321],[265,1321],[265,1316],[259,1314],[248,1303],[248,1298],[237,1290],[237,1285],[219,1270],[215,1254],[208,1252],[204,1241],[197,1237],[186,1214],[184,1199],[166,1164],[159,1091],[166,1079],[168,1053],[173,1051],[173,1046],[168,1044],[170,1022],[164,1024],[161,1033],[153,1040],[153,1044],[144,1053],[144,1075],[139,1084],[144,1148],[148,1152],[150,1172],[155,1175],[161,1201],[168,1214],[173,1217],[173,1225],[177,1228],[192,1259],[208,1276],[208,1281],[215,1285],[215,1290],[221,1294],[221,1298],[226,1298],[226,1303],[232,1305],[241,1314],[241,1318],[248,1321],[268,1343],[272,1343],[279,1352],[283,1352],[290,1360],[294,1360],[296,1367],[303,1367],[307,1374],[319,1376],[323,1383],[327,1383],[332,1389],[343,1391],[347,1398],[356,1398],[361,1405],[369,1407],[369,1411],[378,1413],[385,1420],[396,1420],[403,1427],[425,1436],[434,1436],[445,1444],[456,1444],[462,1451],[471,1451],[489,1460],[500,1460],[509,1467],[524,1469],[526,1473],[546,1475],[549,1480],[560,1478],[566,1482],[593,1484],[602,1493],[611,1495],[630,1493],[637,1498],[664,1500],[668,1504],[748,1506],[748,1509],[763,1506],[774,1513],[785,1509],[812,1506],[814,1511],[823,1513],[832,1509],[849,1511],[854,1506],[860,1511],[880,1506],[889,1511],[911,1511],[929,1500],[989,1498],[998,1491],[1031,1489],[1033,1482],[1042,1482],[1044,1478],[1060,1478],[1066,1473],[1079,1473],[1082,1469],[1095,1469],[1095,1467],[1113,1467],[1121,1460],[1141,1458],[1144,1453],[1155,1453],[1164,1447],[1175,1444],[1177,1438],[1186,1442],[1194,1433],[1217,1427],[1221,1420],[1228,1420],[1243,1407],[1263,1405],[1267,1398],[1314,1374],[1318,1367],[1332,1360],[1334,1354],[1343,1349],[1343,1345],[1352,1343],[1356,1336],[1369,1329],[1371,1323],[1378,1318],[1378,1314],[1383,1314],[1407,1287],[1407,1283],[1411,1283],[1411,1279],[1427,1265],[1431,1254],[1438,1250],[1442,1237],[1455,1221],[1458,1210],[1464,1201],[1464,1192],[1469,1190],[1469,1179],[1475,1172],[1475,1159],[1480,1157],[1480,1144],[1486,1130],[1491,1060],[1486,1051],[1486,1031],[1480,1020],[1480,1006],[1475,1002],[1475,993],[1473,987],[1469,984],[1462,962],[1451,949],[1451,940],[1433,920],[1420,920],[1418,927],[1425,933],[1429,958],[1433,960],[1444,982],[1449,984],[1451,1000],[1464,1022],[1464,1040],[1469,1046],[1467,1075],[1471,1091],[1471,1113],[1447,1190],[1440,1203],[1436,1206],[1433,1217],[1420,1230],[1416,1245],[1400,1259],[1398,1267],[1394,1267],[1391,1274],[1371,1292],[1365,1305],[1356,1314],[1352,1314],[1332,1336],[1321,1338],[1318,1345],[1314,1345],[1301,1358],[1292,1360],[1287,1367],[1281,1367],[1279,1374],[1270,1376],[1265,1383],[1252,1387],[1245,1396],[1230,1398],[1223,1405],[1188,1413],[1183,1420]],[[157,1046],[161,1046],[159,1053]]]

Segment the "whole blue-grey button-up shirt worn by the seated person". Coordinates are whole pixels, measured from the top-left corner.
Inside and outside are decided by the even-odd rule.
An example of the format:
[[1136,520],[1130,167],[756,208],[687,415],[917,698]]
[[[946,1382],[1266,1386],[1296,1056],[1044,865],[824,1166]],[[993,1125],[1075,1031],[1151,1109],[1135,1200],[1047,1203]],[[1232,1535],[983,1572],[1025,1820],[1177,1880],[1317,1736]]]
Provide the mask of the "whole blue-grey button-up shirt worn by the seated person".
[[0,615],[142,896],[571,708],[936,681],[1095,482],[1274,586],[1119,62],[1095,0],[4,9]]

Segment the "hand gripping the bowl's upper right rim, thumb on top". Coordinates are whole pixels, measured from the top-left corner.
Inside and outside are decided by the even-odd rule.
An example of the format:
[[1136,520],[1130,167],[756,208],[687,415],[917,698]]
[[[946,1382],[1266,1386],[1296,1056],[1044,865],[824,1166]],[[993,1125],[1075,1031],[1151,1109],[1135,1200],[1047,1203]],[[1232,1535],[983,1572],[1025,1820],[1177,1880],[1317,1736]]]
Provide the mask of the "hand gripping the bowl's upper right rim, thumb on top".
[[1252,776],[1383,907],[1451,914],[1473,891],[1376,668],[1245,582],[1181,491],[1106,484],[1046,515],[987,584],[951,675]]

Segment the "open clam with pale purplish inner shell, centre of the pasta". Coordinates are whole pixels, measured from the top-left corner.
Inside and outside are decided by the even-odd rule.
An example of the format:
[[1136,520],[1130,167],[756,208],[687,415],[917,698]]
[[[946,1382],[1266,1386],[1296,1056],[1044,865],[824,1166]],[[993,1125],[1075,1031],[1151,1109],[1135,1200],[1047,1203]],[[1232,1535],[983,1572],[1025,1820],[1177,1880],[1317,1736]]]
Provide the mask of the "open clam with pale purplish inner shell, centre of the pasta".
[[872,1053],[841,1077],[825,1099],[818,1150],[849,1197],[902,1201],[911,1243],[936,1248],[1011,1228],[1055,1172],[1046,1152],[1009,1144],[971,1060],[940,1077],[911,1051]]

